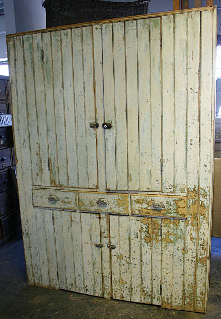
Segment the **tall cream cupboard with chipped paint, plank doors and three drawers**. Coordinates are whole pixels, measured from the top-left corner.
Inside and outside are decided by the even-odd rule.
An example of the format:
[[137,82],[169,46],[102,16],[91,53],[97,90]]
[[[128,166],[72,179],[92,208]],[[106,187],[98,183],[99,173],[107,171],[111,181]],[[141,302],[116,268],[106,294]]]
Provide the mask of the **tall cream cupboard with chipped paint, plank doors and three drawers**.
[[206,311],[216,17],[7,36],[29,284]]

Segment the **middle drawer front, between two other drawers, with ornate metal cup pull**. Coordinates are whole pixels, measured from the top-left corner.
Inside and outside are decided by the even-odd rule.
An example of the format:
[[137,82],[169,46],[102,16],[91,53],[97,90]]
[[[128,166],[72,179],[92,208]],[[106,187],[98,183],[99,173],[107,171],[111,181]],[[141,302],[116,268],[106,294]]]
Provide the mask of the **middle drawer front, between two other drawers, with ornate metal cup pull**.
[[129,213],[128,194],[78,192],[80,211],[97,211],[118,214]]

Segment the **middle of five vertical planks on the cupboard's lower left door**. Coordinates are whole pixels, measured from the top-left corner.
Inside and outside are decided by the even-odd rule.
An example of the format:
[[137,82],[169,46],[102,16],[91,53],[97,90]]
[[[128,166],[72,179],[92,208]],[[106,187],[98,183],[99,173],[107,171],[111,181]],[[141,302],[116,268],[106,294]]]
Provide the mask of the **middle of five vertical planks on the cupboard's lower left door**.
[[76,292],[84,293],[84,265],[81,247],[81,214],[71,213]]

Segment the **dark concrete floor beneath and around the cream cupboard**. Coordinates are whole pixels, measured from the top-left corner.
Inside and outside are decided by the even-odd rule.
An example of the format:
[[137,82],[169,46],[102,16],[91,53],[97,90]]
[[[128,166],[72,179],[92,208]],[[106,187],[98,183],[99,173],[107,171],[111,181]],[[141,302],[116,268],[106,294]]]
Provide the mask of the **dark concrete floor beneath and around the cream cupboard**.
[[106,300],[26,284],[21,236],[0,249],[0,319],[14,318],[221,318],[221,238],[212,238],[207,314]]

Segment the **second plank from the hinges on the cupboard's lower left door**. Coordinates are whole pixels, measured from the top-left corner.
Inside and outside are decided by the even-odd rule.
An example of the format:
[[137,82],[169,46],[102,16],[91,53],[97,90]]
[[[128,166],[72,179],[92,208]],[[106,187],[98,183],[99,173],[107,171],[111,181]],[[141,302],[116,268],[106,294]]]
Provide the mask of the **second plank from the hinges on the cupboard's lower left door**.
[[76,291],[71,213],[69,211],[62,211],[62,226],[67,290]]

